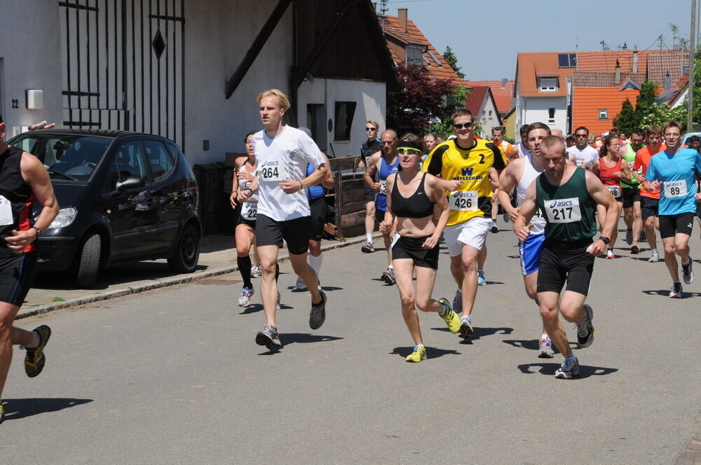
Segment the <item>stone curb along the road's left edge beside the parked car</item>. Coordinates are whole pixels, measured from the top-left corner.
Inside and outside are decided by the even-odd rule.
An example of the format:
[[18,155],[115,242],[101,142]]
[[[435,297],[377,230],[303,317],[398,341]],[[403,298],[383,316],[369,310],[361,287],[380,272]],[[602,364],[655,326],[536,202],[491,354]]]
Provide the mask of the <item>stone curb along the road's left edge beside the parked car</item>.
[[[374,233],[373,238],[382,237],[379,233]],[[365,236],[354,237],[353,239],[348,239],[343,242],[334,241],[331,244],[322,245],[322,251],[341,249],[343,247],[348,247],[349,245],[360,244],[365,241]],[[290,255],[285,252],[284,255],[278,257],[278,263],[287,261]],[[127,289],[114,289],[114,291],[107,291],[103,293],[90,294],[88,296],[83,296],[79,298],[74,298],[70,300],[65,300],[63,302],[52,302],[44,305],[38,305],[32,309],[18,312],[15,320],[34,317],[40,314],[46,314],[48,312],[53,312],[54,310],[60,310],[67,307],[77,307],[78,305],[86,305],[88,303],[100,302],[100,300],[108,300],[116,297],[129,296],[130,294],[136,294],[144,291],[152,291],[154,289],[160,289],[166,286],[175,286],[176,284],[186,284],[192,281],[198,281],[199,279],[207,279],[210,277],[215,277],[219,275],[226,275],[238,271],[238,265],[231,265],[224,268],[217,268],[216,270],[205,270],[203,272],[185,275],[180,277],[173,277],[168,279],[163,279],[161,281],[152,282],[148,284],[141,284],[140,286],[128,287]]]

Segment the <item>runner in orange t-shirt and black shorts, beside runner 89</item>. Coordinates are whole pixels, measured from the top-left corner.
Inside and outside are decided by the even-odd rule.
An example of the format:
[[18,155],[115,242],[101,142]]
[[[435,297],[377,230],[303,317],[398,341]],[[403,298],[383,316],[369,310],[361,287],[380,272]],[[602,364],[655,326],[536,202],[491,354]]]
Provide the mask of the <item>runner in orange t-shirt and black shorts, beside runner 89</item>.
[[[645,182],[645,174],[648,172],[648,165],[655,153],[661,152],[667,148],[662,144],[662,129],[659,126],[648,126],[645,130],[648,139],[648,145],[641,148],[635,154],[635,165],[633,165],[633,176],[638,180],[640,186]],[[660,230],[660,218],[658,218],[658,209],[660,206],[660,189],[648,191],[645,188],[640,189],[640,215],[645,224],[645,236],[650,246],[651,255],[648,259],[650,263],[660,261],[660,253],[657,250],[657,240],[655,238],[655,229]]]

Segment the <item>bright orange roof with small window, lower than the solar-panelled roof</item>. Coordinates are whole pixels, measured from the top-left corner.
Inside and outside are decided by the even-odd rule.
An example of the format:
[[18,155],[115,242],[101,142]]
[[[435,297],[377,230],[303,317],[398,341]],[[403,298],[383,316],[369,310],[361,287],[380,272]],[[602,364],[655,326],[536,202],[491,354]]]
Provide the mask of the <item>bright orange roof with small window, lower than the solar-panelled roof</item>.
[[[572,127],[585,126],[592,134],[601,134],[613,127],[613,118],[620,113],[625,99],[635,106],[639,92],[634,89],[576,88],[572,92]],[[608,118],[599,119],[599,110],[606,109]]]

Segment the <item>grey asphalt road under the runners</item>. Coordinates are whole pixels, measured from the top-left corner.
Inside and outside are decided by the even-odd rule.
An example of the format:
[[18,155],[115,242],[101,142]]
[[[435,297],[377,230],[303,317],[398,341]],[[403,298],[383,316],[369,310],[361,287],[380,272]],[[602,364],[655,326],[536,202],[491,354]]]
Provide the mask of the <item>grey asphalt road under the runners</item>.
[[[287,290],[295,277],[283,264],[278,354],[255,345],[264,319],[259,305],[236,306],[238,274],[22,319],[24,328],[50,325],[53,336],[37,378],[26,377],[15,349],[0,457],[672,464],[701,425],[701,275],[672,300],[664,263],[617,252],[594,268],[597,338],[575,351],[576,380],[553,377],[559,356],[536,358],[540,317],[507,231],[489,236],[475,337],[461,343],[439,317],[421,314],[429,359],[416,364],[404,362],[413,344],[397,290],[379,281],[384,253],[359,247],[325,254],[329,304],[318,331],[308,327],[308,294]],[[442,254],[435,296],[451,300],[448,263]]]

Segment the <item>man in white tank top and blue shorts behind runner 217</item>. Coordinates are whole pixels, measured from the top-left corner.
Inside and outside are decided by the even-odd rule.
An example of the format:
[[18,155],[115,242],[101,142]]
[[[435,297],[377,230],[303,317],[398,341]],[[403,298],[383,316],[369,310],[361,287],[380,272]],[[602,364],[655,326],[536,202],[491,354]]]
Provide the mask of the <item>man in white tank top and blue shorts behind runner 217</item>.
[[[550,135],[550,128],[543,123],[533,123],[529,126],[526,132],[528,144],[533,148],[533,153],[540,154],[540,142]],[[519,214],[519,207],[526,200],[526,190],[531,185],[533,180],[538,177],[538,174],[543,172],[543,167],[539,163],[539,158],[536,159],[533,155],[526,155],[524,158],[513,160],[499,176],[499,197],[503,205],[507,205],[506,200],[513,188],[516,188],[518,207],[512,207],[508,202],[508,207],[504,207],[512,221],[516,221]],[[538,262],[540,261],[540,249],[543,248],[543,240],[545,236],[545,218],[540,216],[540,211],[537,210],[535,216],[531,218],[531,232],[525,241],[519,241],[519,256],[521,258],[521,272],[524,277],[524,286],[526,294],[529,298],[538,305]],[[552,340],[545,331],[538,340],[538,357],[541,359],[552,359],[554,352],[552,350]]]

